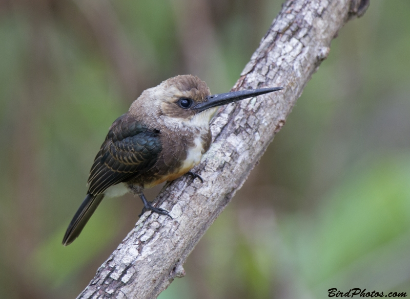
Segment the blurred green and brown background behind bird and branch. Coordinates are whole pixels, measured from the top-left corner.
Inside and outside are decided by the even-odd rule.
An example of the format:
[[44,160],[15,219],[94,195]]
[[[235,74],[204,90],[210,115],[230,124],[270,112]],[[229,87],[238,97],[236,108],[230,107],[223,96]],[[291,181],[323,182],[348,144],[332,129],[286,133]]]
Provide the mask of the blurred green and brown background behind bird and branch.
[[[74,298],[127,235],[105,200],[61,246],[111,123],[178,74],[228,91],[276,0],[0,1],[0,298]],[[342,28],[286,125],[168,298],[410,294],[410,2]],[[148,192],[155,198],[159,189]]]

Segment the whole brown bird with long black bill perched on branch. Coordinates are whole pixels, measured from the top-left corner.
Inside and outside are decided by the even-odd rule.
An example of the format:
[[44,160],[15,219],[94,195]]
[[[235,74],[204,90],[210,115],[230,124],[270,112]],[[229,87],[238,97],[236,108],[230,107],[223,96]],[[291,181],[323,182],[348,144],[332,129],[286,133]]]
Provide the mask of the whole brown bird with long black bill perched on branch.
[[[138,195],[145,211],[169,215],[145,197],[144,189],[172,181],[199,164],[212,142],[210,121],[218,107],[283,87],[211,95],[193,75],[179,75],[144,90],[111,125],[91,167],[87,196],[71,220],[63,245],[71,244],[103,198]],[[172,217],[171,217],[172,218]]]

